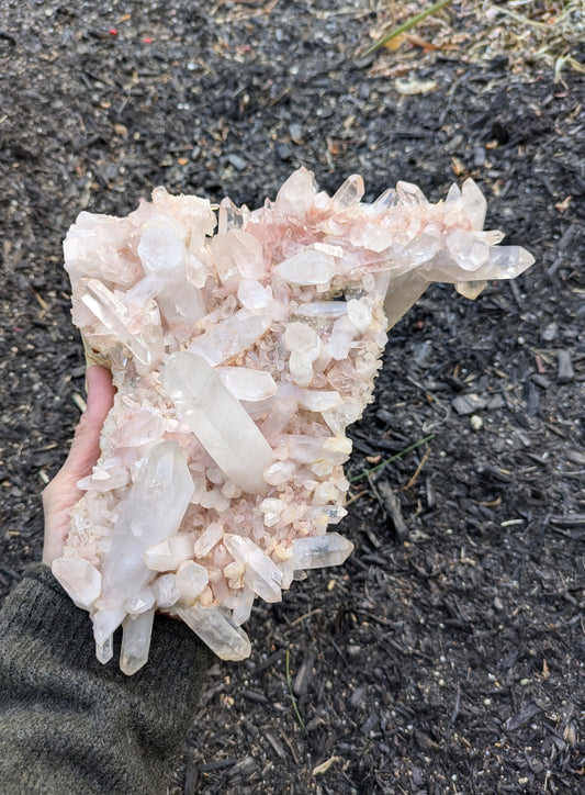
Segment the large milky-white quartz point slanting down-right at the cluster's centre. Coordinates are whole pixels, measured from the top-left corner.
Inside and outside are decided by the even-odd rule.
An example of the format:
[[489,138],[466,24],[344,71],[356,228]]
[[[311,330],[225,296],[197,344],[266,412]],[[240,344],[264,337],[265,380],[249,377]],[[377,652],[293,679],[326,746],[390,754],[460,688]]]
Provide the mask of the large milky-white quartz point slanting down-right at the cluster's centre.
[[261,491],[272,448],[210,365],[195,354],[173,354],[160,378],[177,413],[220,469],[244,491]]

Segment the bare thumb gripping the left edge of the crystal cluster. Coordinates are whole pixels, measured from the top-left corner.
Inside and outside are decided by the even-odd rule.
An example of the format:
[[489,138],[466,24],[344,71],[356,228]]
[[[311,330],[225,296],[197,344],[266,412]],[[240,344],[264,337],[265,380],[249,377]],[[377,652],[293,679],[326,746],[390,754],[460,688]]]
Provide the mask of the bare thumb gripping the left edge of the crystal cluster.
[[112,373],[105,367],[90,367],[86,379],[88,405],[76,428],[71,449],[63,468],[67,479],[74,482],[90,474],[100,457],[100,434],[115,395]]

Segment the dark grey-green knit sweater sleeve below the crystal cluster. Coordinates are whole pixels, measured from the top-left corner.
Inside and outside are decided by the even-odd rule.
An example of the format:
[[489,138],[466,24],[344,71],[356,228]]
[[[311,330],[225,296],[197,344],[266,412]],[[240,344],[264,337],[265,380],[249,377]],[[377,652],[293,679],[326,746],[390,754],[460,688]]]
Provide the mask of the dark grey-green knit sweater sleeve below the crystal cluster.
[[1,793],[166,793],[212,653],[164,616],[134,676],[93,649],[88,614],[31,567],[0,611]]

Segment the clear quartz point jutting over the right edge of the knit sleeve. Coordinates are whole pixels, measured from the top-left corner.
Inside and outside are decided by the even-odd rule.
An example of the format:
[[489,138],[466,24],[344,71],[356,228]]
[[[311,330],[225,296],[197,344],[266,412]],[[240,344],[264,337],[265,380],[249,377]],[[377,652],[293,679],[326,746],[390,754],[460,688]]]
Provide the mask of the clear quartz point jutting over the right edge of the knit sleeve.
[[179,607],[177,614],[222,660],[245,660],[250,656],[246,632],[217,607]]

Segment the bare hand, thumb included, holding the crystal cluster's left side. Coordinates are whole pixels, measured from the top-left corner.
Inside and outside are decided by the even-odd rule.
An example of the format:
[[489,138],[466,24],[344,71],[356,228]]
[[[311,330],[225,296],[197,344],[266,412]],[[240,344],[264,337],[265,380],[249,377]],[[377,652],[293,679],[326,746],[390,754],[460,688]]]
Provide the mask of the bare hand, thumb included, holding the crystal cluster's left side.
[[45,542],[43,563],[52,566],[60,558],[69,533],[69,513],[82,492],[77,481],[91,473],[100,457],[100,434],[113,405],[115,389],[105,367],[90,367],[86,374],[88,406],[75,432],[67,460],[43,492]]

